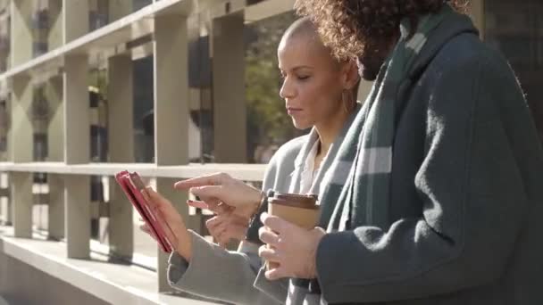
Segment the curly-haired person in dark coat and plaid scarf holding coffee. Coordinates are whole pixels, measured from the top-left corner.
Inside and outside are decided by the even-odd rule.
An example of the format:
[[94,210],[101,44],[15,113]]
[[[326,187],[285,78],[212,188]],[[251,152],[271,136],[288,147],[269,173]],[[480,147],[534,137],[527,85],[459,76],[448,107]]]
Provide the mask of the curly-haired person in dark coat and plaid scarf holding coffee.
[[352,161],[342,191],[319,194],[326,231],[263,216],[260,255],[280,265],[266,276],[310,279],[292,300],[543,304],[543,151],[466,5],[297,1],[375,83],[336,157],[338,171]]

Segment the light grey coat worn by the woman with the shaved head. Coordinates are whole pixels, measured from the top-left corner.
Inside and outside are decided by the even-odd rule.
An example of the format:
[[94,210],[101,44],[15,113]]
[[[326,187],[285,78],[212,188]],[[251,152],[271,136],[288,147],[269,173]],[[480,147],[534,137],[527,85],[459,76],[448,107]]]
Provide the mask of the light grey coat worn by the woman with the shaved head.
[[[360,107],[357,107],[359,110]],[[356,111],[355,111],[356,112]],[[327,157],[322,161],[321,170],[315,183],[319,185],[330,168],[338,147],[355,113],[346,121],[340,134],[330,146]],[[313,144],[318,140],[316,130],[306,136],[297,137],[283,144],[273,155],[266,168],[263,190],[294,192],[299,189],[300,175],[305,159]],[[318,192],[319,186],[316,187]],[[190,263],[176,252],[172,253],[168,267],[168,281],[173,288],[205,298],[236,304],[282,304],[288,293],[288,279],[268,281],[261,272],[262,260],[258,257],[257,246],[242,243],[239,251],[226,251],[202,236],[190,231],[192,238],[192,259]]]

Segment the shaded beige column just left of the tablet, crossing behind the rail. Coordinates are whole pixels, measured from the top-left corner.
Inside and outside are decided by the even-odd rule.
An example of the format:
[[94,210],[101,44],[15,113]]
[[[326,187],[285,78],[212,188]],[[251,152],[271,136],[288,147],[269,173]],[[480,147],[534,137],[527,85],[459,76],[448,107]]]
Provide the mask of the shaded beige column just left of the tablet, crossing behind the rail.
[[[133,69],[129,54],[109,59],[108,147],[111,162],[134,161]],[[110,178],[109,245],[111,254],[124,259],[134,251],[133,208],[114,178]]]

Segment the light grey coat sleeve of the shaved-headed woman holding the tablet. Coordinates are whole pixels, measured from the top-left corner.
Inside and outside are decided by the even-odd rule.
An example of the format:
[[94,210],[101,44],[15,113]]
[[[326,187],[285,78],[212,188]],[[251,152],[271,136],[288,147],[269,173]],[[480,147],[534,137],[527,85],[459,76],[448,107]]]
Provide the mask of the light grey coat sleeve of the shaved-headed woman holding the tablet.
[[[282,162],[292,161],[287,157],[296,152],[299,141],[300,139],[291,141],[291,144],[282,147],[281,151],[273,156],[266,167],[263,189],[275,188],[276,185],[288,181],[289,177],[280,179],[278,176],[281,166],[285,167]],[[287,157],[283,156],[285,154]],[[193,244],[190,263],[177,253],[171,254],[169,260],[168,279],[173,288],[235,304],[282,304],[286,300],[288,281],[269,281],[262,272],[257,276],[263,264],[257,254],[256,243],[260,241],[256,225],[249,228],[249,234],[255,242],[241,243],[238,251],[225,251],[202,236],[192,231],[190,233]]]

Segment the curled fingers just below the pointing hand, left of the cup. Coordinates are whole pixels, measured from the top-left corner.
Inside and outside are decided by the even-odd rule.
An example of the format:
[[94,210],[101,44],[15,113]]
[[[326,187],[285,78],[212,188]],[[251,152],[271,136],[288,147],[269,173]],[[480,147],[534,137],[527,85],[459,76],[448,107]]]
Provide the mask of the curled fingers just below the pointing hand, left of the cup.
[[205,227],[213,238],[226,248],[227,243],[234,239],[241,241],[246,236],[249,219],[234,213],[222,213],[205,222]]

